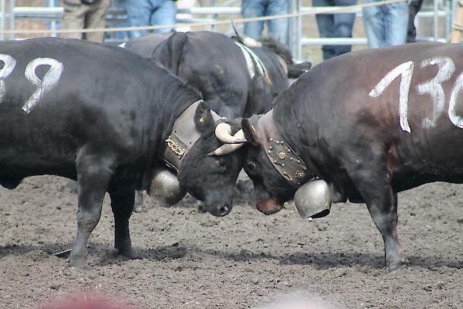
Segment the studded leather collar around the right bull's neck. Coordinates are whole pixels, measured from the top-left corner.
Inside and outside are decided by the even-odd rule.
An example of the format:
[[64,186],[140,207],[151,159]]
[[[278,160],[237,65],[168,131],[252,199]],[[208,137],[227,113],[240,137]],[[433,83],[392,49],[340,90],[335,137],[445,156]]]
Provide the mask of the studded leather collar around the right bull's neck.
[[311,179],[316,179],[313,175],[307,174],[306,163],[303,162],[291,146],[283,140],[274,122],[274,110],[270,110],[257,122],[257,127],[261,129],[264,150],[271,164],[288,182],[295,187]]

